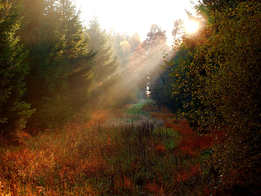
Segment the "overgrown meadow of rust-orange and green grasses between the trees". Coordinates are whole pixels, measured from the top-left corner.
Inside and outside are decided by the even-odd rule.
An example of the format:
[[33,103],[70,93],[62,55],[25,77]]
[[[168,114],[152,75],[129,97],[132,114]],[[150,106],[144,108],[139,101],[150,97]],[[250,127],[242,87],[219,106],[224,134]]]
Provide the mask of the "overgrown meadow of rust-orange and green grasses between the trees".
[[219,195],[215,137],[149,103],[2,141],[0,195]]

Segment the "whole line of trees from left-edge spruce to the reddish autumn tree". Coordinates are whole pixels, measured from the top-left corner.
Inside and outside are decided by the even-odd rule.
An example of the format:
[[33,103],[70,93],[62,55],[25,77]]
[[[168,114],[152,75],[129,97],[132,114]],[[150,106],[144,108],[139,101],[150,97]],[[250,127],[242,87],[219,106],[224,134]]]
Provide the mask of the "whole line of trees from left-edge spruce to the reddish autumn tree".
[[141,43],[138,33],[103,30],[96,16],[86,27],[80,13],[69,0],[2,1],[2,136],[86,122],[92,109],[145,96],[173,111],[182,108],[160,67],[162,52],[170,51],[165,31],[153,24]]

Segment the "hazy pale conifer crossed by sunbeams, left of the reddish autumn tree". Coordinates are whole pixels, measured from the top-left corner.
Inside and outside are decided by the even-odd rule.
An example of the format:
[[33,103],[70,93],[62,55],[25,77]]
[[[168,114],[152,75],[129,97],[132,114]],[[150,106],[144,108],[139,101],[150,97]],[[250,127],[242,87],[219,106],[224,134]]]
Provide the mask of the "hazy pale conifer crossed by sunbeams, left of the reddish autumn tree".
[[[90,21],[86,36],[90,38],[88,49],[97,51],[94,74],[96,82],[92,91],[92,105],[96,106],[97,100],[100,106],[115,105],[114,94],[118,81],[122,78],[120,73],[121,62],[115,55],[114,43],[106,30],[100,27],[97,17]],[[106,97],[106,99],[104,99]]]

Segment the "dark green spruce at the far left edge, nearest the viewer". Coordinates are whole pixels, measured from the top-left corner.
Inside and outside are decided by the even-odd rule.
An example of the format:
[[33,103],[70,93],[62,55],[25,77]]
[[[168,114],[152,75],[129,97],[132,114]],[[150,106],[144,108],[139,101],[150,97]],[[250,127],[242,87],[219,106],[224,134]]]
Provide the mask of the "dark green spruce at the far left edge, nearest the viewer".
[[0,134],[7,137],[25,127],[34,109],[30,110],[31,104],[21,101],[29,67],[25,61],[28,53],[15,36],[20,26],[19,10],[17,5],[1,3],[0,6]]

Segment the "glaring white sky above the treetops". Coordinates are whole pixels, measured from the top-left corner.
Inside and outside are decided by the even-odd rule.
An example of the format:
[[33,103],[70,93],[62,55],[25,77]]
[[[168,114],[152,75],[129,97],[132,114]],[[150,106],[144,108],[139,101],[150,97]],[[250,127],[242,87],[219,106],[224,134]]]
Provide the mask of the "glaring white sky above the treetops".
[[[151,24],[167,30],[168,44],[172,44],[171,31],[173,21],[187,20],[186,11],[194,13],[190,0],[75,0],[77,7],[81,6],[82,20],[87,25],[96,15],[102,28],[115,27],[116,32],[128,32],[129,36],[138,32],[142,41],[150,31]],[[197,2],[197,1],[194,1]]]

